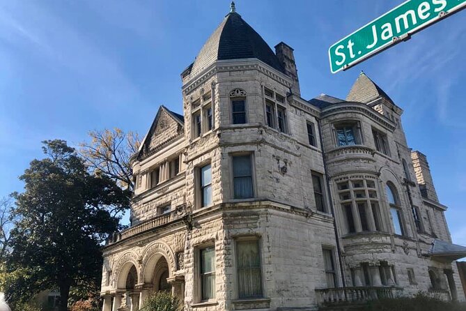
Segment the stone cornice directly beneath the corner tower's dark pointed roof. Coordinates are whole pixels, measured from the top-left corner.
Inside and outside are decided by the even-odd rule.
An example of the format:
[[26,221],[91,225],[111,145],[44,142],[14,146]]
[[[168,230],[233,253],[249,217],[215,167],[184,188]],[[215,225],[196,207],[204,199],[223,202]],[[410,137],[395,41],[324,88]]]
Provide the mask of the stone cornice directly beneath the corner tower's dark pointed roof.
[[189,79],[189,82],[182,86],[182,92],[185,96],[189,95],[199,85],[205,83],[210,77],[216,73],[237,71],[237,70],[258,70],[259,72],[271,77],[277,82],[284,84],[287,87],[291,87],[293,81],[290,77],[284,73],[280,73],[276,69],[268,66],[263,61],[258,59],[237,59],[228,61],[216,61],[212,65],[205,68],[201,73],[196,75],[193,79]]

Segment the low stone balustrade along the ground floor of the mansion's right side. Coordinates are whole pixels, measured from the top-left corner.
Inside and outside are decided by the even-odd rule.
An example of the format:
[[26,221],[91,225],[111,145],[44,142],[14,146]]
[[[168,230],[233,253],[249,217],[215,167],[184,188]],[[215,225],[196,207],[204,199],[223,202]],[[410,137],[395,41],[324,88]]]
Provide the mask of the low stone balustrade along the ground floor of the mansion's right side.
[[316,301],[319,307],[365,303],[383,298],[401,296],[401,287],[340,287],[316,289]]

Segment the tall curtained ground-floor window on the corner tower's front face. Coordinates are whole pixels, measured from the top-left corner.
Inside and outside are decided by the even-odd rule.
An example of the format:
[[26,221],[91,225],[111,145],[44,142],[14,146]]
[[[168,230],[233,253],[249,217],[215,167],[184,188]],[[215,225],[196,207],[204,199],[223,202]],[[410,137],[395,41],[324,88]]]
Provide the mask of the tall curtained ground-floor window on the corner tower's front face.
[[237,241],[236,266],[239,298],[262,297],[261,252],[259,241]]

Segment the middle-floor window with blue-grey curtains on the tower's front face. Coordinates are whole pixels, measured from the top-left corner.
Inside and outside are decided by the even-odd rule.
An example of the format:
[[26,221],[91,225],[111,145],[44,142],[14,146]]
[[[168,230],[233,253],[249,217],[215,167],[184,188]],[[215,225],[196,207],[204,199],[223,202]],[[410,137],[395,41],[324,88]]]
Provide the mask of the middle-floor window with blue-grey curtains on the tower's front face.
[[235,199],[254,197],[251,155],[233,156],[233,192]]

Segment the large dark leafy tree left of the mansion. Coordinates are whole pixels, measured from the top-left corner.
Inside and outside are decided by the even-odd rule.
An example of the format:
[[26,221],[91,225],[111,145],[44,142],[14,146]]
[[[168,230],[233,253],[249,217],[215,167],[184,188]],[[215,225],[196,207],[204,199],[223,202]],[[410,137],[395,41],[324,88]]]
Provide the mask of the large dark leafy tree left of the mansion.
[[111,210],[127,208],[129,195],[108,176],[89,174],[65,141],[43,144],[46,158],[31,162],[20,176],[24,192],[14,194],[8,270],[27,271],[29,293],[58,288],[59,311],[67,311],[71,287],[100,282],[101,243],[118,229]]

